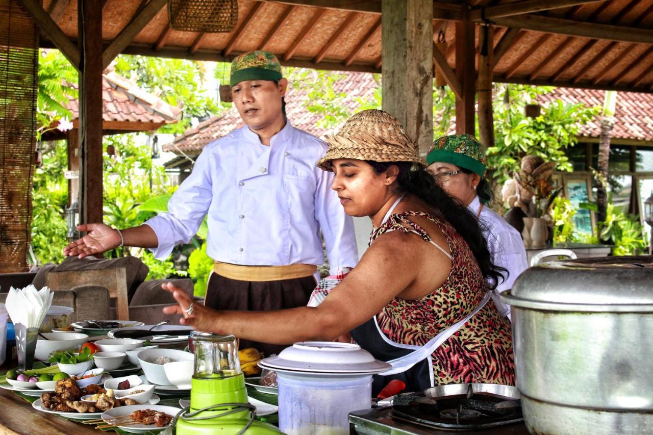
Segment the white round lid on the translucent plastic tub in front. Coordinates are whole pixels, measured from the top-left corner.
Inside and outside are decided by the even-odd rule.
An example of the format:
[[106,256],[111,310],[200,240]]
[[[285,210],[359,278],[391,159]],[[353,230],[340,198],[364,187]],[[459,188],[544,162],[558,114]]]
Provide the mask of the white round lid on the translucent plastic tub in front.
[[391,367],[357,344],[336,342],[295,343],[279,355],[263,359],[260,365],[272,370],[331,374],[377,374]]

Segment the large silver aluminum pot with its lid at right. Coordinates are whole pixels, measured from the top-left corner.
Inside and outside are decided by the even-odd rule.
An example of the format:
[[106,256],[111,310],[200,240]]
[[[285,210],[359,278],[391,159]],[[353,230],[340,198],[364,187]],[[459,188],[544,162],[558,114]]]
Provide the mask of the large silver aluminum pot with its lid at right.
[[530,432],[653,430],[653,257],[545,263],[501,300]]

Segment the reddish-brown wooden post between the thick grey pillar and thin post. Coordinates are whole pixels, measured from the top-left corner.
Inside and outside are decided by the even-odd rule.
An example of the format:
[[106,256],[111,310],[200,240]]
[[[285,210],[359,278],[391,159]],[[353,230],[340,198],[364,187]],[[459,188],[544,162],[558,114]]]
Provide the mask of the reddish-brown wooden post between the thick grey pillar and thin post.
[[456,134],[475,135],[475,41],[473,22],[456,22],[456,76],[462,97],[456,97]]

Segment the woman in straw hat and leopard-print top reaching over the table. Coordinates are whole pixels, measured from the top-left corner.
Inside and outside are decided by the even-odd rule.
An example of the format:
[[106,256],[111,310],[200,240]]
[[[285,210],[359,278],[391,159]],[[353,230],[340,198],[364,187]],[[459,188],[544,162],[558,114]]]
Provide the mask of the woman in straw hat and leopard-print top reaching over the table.
[[183,323],[276,343],[334,340],[351,331],[358,344],[393,368],[375,391],[401,378],[408,391],[447,383],[514,385],[511,325],[490,299],[492,264],[476,217],[424,169],[414,142],[391,115],[364,110],[334,137],[319,167],[345,212],[369,216],[370,248],[317,307],[276,312],[215,312],[197,308],[183,292]]

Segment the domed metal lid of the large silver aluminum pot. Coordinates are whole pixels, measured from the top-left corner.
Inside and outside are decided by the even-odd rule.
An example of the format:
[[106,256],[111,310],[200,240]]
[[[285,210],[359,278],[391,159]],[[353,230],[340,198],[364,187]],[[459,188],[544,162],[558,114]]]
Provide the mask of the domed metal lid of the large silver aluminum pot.
[[544,263],[524,271],[501,300],[536,310],[653,312],[653,257]]

